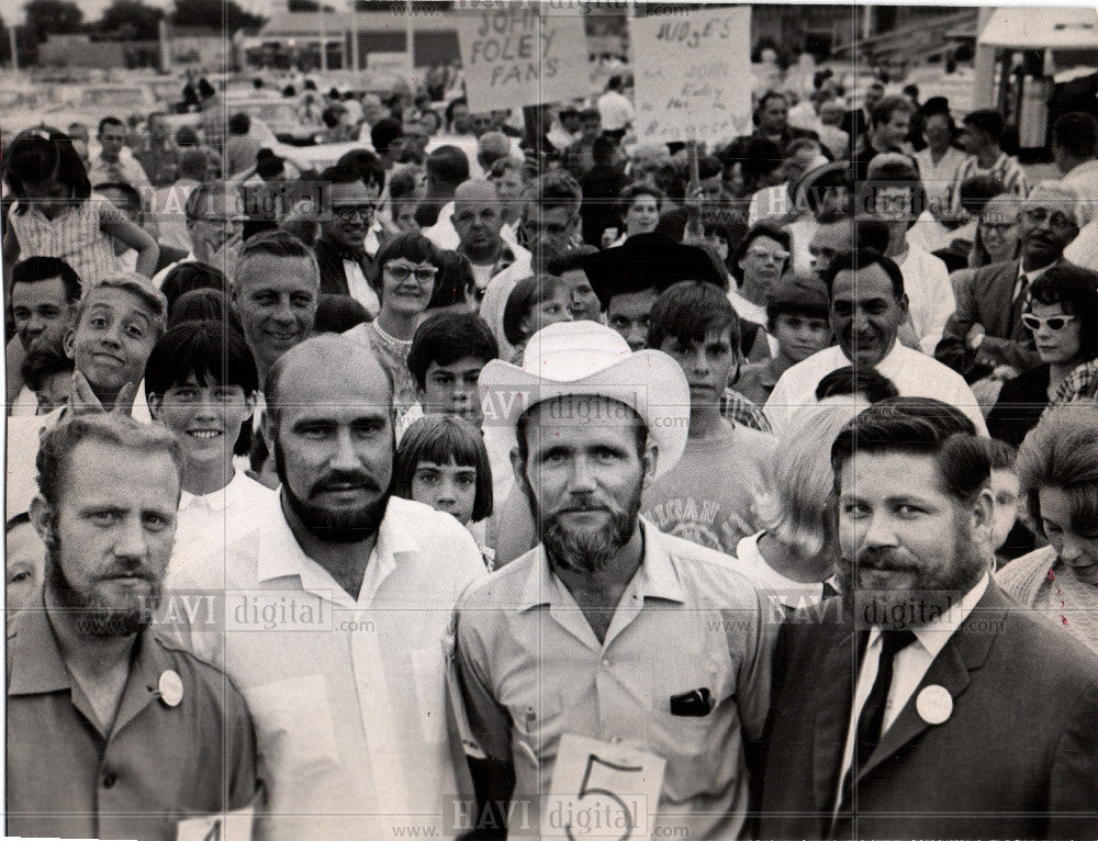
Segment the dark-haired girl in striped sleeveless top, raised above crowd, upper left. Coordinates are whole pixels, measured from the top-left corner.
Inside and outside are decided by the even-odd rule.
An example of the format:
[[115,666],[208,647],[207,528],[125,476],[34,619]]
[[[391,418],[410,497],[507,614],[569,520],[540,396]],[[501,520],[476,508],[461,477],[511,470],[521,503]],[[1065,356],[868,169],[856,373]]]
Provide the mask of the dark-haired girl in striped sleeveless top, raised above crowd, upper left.
[[[3,238],[4,265],[20,258],[59,257],[91,283],[128,271],[114,242],[137,251],[137,271],[150,277],[159,249],[152,236],[105,199],[91,198],[91,184],[67,134],[30,128],[12,141],[3,178],[15,203]],[[10,281],[5,270],[5,281]],[[9,283],[4,283],[9,288]]]

